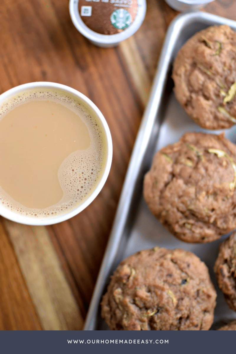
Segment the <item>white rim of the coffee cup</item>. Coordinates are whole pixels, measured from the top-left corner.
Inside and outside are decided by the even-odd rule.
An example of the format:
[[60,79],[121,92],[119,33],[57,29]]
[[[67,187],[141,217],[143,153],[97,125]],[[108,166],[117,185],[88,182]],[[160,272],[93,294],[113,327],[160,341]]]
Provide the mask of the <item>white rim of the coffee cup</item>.
[[53,216],[51,218],[35,218],[35,217],[28,217],[24,215],[17,214],[16,212],[13,212],[11,210],[8,210],[4,206],[0,205],[0,215],[11,220],[15,221],[21,224],[25,225],[52,225],[52,224],[57,224],[59,222],[65,221],[70,219],[71,217],[79,214],[81,211],[83,211],[91,202],[97,197],[97,195],[100,193],[102,190],[105,182],[107,181],[110,168],[111,168],[111,161],[112,161],[112,156],[113,156],[113,145],[112,145],[112,139],[111,139],[111,133],[109,126],[107,124],[107,121],[105,120],[102,112],[99,110],[99,108],[91,101],[90,98],[85,96],[83,93],[80,91],[77,91],[76,89],[73,89],[70,86],[63,85],[63,84],[58,84],[57,82],[50,82],[50,81],[35,81],[35,82],[29,82],[27,84],[22,84],[18,85],[15,87],[12,87],[11,89],[3,92],[0,95],[0,105],[2,102],[4,102],[6,99],[10,98],[12,95],[17,94],[18,92],[26,91],[29,89],[34,89],[34,88],[51,88],[51,89],[59,89],[64,92],[70,93],[77,98],[79,98],[82,102],[85,104],[89,105],[90,108],[93,110],[93,112],[98,116],[100,122],[102,123],[105,137],[106,137],[106,142],[107,142],[107,159],[105,162],[105,167],[104,171],[102,173],[102,177],[100,178],[96,188],[93,190],[91,195],[84,201],[82,204],[79,206],[75,207],[75,209],[70,210],[67,213],[64,213],[62,215],[58,216]]

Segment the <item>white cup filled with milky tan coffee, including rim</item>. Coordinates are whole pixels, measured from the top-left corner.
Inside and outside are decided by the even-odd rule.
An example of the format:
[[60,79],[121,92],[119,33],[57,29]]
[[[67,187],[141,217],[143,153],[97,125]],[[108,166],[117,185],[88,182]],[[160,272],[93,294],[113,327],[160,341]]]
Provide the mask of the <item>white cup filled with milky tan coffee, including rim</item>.
[[53,224],[82,211],[112,157],[102,113],[70,87],[33,82],[0,96],[0,214]]

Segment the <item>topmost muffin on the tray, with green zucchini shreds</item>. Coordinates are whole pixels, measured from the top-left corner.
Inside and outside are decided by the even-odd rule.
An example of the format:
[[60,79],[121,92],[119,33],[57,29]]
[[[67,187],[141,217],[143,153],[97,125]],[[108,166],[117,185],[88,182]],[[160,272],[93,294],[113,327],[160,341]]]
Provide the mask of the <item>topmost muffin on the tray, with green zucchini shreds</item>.
[[236,123],[236,33],[211,26],[192,36],[173,64],[174,92],[189,116],[206,129]]

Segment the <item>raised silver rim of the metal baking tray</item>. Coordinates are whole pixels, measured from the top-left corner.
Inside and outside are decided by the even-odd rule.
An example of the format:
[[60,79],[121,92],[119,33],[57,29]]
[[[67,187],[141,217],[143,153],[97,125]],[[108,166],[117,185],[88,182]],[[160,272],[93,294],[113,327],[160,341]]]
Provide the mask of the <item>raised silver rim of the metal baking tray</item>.
[[[175,40],[177,39],[181,29],[183,29],[186,25],[190,25],[196,21],[209,23],[208,25],[228,24],[230,27],[233,27],[236,30],[236,21],[202,11],[180,13],[169,24],[165,40],[163,42],[154,80],[151,86],[148,103],[144,110],[143,118],[140,122],[140,127],[134,142],[113,226],[111,228],[103,261],[100,266],[83,330],[95,330],[99,302],[102,296],[105,282],[107,280],[107,276],[110,273],[110,268],[112,266],[113,260],[119,250],[122,233],[127,221],[129,209],[131,207],[131,200],[134,194],[140,167],[143,163],[151,136],[151,131],[154,127],[156,115],[160,107],[162,92],[166,82],[169,65],[171,63]],[[159,128],[160,122],[158,122],[157,126],[157,129]]]

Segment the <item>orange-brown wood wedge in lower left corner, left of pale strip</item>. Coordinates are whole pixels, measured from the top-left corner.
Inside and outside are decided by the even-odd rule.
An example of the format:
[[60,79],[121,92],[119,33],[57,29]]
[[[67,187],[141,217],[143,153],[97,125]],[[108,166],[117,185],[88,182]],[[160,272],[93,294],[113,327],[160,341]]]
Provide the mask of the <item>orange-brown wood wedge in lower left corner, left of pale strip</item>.
[[41,330],[16,254],[0,218],[0,330]]

